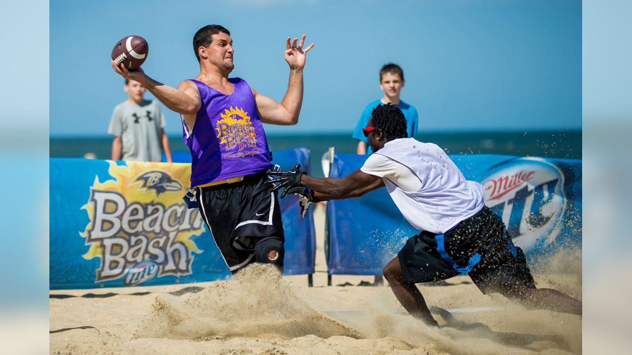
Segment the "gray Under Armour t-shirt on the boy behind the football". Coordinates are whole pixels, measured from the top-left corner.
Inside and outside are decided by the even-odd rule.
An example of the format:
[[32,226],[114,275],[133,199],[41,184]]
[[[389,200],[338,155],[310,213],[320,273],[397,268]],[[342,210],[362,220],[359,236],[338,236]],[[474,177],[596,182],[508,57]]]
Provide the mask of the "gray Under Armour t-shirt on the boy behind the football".
[[159,162],[162,160],[164,115],[157,101],[143,104],[123,102],[114,107],[107,133],[121,137],[123,160]]

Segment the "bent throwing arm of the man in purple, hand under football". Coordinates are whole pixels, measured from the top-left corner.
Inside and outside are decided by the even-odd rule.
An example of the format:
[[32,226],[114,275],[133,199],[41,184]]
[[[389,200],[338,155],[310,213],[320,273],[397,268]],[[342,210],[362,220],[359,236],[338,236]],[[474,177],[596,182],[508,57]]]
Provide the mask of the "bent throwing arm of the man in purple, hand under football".
[[200,93],[193,81],[185,80],[178,85],[178,88],[173,88],[150,78],[141,68],[129,71],[125,68],[125,64],[121,63],[121,66],[117,66],[114,61],[112,61],[112,68],[123,78],[141,83],[143,87],[153,93],[156,99],[160,100],[171,111],[183,114],[189,129],[193,129],[195,115],[202,107]]

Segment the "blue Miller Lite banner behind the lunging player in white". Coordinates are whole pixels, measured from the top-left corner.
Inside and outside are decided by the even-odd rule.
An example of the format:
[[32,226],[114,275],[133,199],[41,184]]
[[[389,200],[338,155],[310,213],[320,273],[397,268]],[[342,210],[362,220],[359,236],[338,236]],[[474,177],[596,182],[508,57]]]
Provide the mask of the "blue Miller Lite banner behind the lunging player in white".
[[[485,188],[485,204],[502,217],[530,261],[581,246],[581,160],[452,155],[466,179]],[[362,167],[365,156],[336,154],[329,176]],[[378,275],[418,233],[386,189],[327,205],[327,268],[331,274]]]

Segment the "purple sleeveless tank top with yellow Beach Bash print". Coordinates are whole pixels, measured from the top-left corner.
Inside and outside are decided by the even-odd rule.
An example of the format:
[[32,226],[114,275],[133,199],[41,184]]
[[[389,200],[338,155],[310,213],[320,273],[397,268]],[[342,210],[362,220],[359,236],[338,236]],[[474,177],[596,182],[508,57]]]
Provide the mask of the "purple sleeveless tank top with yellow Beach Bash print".
[[202,107],[193,131],[183,119],[183,138],[191,150],[191,186],[255,174],[272,166],[264,127],[250,85],[231,78],[231,95],[191,80],[197,85]]

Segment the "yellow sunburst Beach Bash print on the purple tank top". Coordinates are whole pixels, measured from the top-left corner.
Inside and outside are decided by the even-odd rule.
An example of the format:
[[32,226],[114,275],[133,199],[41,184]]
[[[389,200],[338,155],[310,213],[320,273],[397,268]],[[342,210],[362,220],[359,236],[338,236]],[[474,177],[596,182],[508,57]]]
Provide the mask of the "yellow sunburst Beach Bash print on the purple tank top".
[[219,143],[224,145],[227,153],[235,150],[235,153],[224,155],[224,159],[259,153],[258,150],[242,152],[245,148],[257,147],[255,128],[250,121],[248,112],[239,107],[231,107],[229,110],[224,109],[224,114],[221,114],[221,117],[222,119],[217,121],[216,127]]

